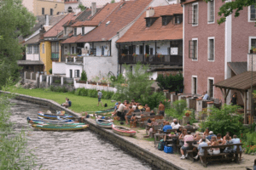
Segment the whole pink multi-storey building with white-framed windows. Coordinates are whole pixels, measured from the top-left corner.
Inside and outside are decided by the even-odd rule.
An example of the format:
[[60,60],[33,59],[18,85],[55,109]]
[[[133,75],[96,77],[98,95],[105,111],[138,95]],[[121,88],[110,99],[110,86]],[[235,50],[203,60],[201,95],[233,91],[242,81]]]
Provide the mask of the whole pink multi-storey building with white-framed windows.
[[239,17],[232,14],[218,25],[222,1],[183,2],[184,93],[207,91],[211,98],[222,98],[213,84],[247,71],[247,53],[253,44],[256,46],[255,8],[246,7]]

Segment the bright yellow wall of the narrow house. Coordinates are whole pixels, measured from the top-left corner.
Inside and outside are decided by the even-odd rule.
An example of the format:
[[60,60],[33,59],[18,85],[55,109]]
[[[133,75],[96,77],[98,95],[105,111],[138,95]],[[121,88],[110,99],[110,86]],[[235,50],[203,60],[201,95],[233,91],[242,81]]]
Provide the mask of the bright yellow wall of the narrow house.
[[[42,46],[44,44],[44,54]],[[40,59],[44,62],[44,71],[49,74],[49,69],[52,68],[52,61],[50,59],[51,57],[51,50],[50,50],[50,42],[41,42],[40,43]]]

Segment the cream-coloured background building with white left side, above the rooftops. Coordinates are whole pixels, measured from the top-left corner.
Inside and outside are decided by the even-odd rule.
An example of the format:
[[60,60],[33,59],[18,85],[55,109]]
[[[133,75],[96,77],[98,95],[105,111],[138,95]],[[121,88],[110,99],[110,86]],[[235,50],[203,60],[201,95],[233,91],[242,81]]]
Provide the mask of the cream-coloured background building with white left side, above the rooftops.
[[35,16],[64,12],[64,0],[23,0],[22,4]]

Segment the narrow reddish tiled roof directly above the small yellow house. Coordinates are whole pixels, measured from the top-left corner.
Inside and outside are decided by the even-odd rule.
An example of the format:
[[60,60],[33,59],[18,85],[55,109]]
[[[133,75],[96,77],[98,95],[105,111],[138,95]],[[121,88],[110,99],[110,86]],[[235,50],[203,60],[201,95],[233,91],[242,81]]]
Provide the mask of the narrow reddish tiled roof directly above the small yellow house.
[[[81,12],[79,13],[81,14]],[[74,13],[67,14],[62,20],[60,20],[55,26],[51,27],[49,31],[44,33],[44,37],[56,37],[58,33],[63,31],[63,25],[67,23],[68,20],[75,20],[79,14],[74,16]]]

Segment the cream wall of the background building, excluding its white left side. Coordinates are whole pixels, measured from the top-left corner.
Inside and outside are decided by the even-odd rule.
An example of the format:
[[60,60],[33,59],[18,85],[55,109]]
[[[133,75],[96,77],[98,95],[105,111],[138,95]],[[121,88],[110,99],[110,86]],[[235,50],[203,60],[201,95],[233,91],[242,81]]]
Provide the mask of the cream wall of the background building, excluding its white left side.
[[[33,14],[42,15],[42,8],[44,8],[44,14],[50,14],[50,8],[53,9],[53,14],[64,11],[64,1],[61,0],[33,0]],[[57,4],[57,5],[56,5]]]

